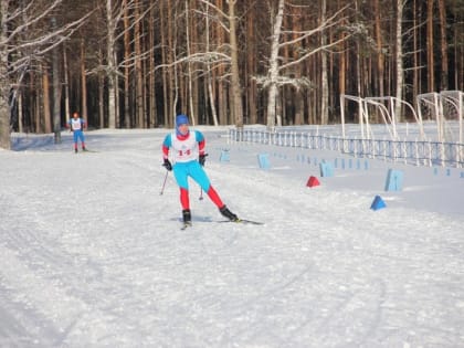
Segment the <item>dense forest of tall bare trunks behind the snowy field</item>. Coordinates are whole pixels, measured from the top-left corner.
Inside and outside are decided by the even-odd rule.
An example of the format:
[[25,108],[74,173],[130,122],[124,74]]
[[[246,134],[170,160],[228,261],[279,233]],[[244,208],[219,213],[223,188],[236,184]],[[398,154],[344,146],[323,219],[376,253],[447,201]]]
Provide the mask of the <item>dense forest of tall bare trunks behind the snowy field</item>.
[[89,129],[336,124],[340,95],[463,91],[464,0],[0,0],[0,80],[6,149],[61,141],[73,112]]

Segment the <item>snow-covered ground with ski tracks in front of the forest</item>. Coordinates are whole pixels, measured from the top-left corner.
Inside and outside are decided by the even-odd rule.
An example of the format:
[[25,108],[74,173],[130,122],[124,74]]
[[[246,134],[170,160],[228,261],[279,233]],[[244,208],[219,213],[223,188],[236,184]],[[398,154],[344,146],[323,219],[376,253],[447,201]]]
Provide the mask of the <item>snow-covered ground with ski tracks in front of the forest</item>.
[[[341,168],[358,159],[193,128],[224,203],[264,224],[223,222],[191,181],[180,230],[170,129],[87,131],[78,154],[67,131],[13,134],[0,347],[464,347],[463,168]],[[400,190],[386,191],[390,169]]]

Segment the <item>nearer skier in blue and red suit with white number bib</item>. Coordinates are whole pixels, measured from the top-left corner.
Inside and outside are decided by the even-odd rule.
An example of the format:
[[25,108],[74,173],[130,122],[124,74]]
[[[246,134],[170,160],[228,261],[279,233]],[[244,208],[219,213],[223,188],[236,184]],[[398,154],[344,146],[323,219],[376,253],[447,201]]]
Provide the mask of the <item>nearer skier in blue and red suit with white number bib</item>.
[[[162,166],[169,171],[173,170],[177,184],[180,188],[183,223],[186,226],[191,225],[188,177],[200,184],[223,217],[238,222],[240,219],[222,202],[203,169],[208,156],[204,154],[204,145],[203,134],[189,129],[189,118],[186,115],[176,117],[176,133],[168,134],[162,143]],[[173,165],[169,161],[169,149],[172,149]]]

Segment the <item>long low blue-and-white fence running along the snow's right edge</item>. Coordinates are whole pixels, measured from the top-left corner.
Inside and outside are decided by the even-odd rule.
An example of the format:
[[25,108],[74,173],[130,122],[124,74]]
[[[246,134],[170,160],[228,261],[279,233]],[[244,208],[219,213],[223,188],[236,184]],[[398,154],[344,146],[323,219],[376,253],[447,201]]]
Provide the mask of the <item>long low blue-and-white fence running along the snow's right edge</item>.
[[464,144],[458,143],[358,139],[305,131],[271,133],[256,129],[229,129],[229,141],[335,150],[354,157],[402,161],[414,166],[464,167]]

